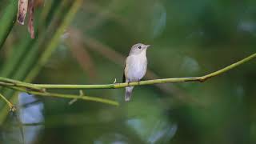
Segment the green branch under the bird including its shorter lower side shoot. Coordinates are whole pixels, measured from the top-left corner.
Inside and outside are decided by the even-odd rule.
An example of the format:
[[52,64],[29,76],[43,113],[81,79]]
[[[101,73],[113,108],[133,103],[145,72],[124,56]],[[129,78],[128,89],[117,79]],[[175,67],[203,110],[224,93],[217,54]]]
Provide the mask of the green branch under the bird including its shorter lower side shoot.
[[[256,53],[250,55],[247,58],[244,58],[238,62],[230,66],[226,66],[225,68],[215,71],[210,74],[206,74],[201,77],[190,77],[190,78],[162,78],[162,79],[154,79],[154,80],[147,80],[141,82],[130,82],[130,83],[113,83],[113,84],[106,84],[106,85],[48,85],[48,84],[31,84],[26,82],[20,82],[9,78],[2,78],[0,77],[0,86],[5,86],[10,89],[23,91],[29,94],[41,95],[41,96],[51,96],[57,98],[76,98],[76,99],[83,99],[89,100],[94,102],[103,102],[111,105],[118,106],[118,102],[114,102],[111,100],[103,99],[103,98],[95,98],[89,96],[78,96],[72,94],[55,94],[55,93],[48,93],[46,90],[48,89],[116,89],[116,88],[124,88],[126,86],[142,86],[142,85],[152,85],[152,84],[160,84],[160,83],[168,83],[168,82],[204,82],[209,78],[215,77],[219,74],[223,74],[228,70],[232,70],[237,66],[242,65],[245,62],[250,61],[251,59],[256,57]],[[1,95],[0,95],[1,96]],[[2,98],[4,98],[2,96]],[[5,99],[5,98],[4,98]],[[7,102],[8,103],[8,102]]]

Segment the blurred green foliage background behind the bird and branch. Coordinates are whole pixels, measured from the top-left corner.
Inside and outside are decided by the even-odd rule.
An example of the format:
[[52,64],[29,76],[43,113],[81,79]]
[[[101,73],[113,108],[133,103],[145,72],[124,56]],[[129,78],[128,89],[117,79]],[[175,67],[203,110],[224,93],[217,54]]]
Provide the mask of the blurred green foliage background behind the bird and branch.
[[[2,0],[0,19],[12,22],[15,5]],[[122,82],[124,60],[138,42],[151,45],[145,79],[201,76],[255,52],[253,0],[37,0],[35,5],[36,38],[14,23],[0,52],[1,77],[46,84]],[[0,33],[8,31],[4,22]],[[124,102],[124,89],[84,90],[120,106],[82,100],[69,105],[70,99],[1,88],[18,106],[18,118],[1,100],[0,143],[23,138],[28,144],[256,143],[255,66],[252,60],[203,83],[138,86],[131,102]]]

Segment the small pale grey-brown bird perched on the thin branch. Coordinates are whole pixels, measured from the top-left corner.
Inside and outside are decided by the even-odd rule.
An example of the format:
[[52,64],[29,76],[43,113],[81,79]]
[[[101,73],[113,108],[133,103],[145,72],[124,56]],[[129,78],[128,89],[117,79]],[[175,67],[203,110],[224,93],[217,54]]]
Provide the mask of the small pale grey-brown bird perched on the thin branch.
[[146,50],[150,45],[137,43],[131,47],[130,53],[126,58],[126,64],[122,77],[122,82],[128,82],[126,87],[125,101],[130,101],[131,93],[134,86],[129,86],[130,82],[140,82],[140,80],[146,74],[147,58]]

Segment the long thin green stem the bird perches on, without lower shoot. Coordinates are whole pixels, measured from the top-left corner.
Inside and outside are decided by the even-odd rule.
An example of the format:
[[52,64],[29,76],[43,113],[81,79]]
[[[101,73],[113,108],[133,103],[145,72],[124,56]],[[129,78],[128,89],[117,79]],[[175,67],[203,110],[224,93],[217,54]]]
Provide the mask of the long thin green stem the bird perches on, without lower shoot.
[[[26,89],[30,90],[38,90],[42,91],[45,89],[117,89],[123,88],[127,86],[142,86],[142,85],[152,85],[152,84],[160,84],[160,83],[168,83],[168,82],[204,82],[208,78],[215,77],[219,74],[223,74],[228,70],[232,70],[237,66],[242,65],[245,62],[250,61],[251,59],[256,57],[255,54],[251,54],[247,58],[244,58],[230,66],[226,66],[225,68],[215,71],[210,74],[206,74],[201,77],[190,77],[190,78],[162,78],[162,79],[154,79],[154,80],[147,80],[141,82],[125,82],[125,83],[113,83],[113,84],[106,84],[106,85],[50,85],[50,84],[31,84],[26,82],[15,81],[9,78],[2,78],[0,77],[0,86],[6,87],[25,87]],[[5,83],[7,82],[7,83]],[[16,85],[11,85],[12,82],[16,83]]]

